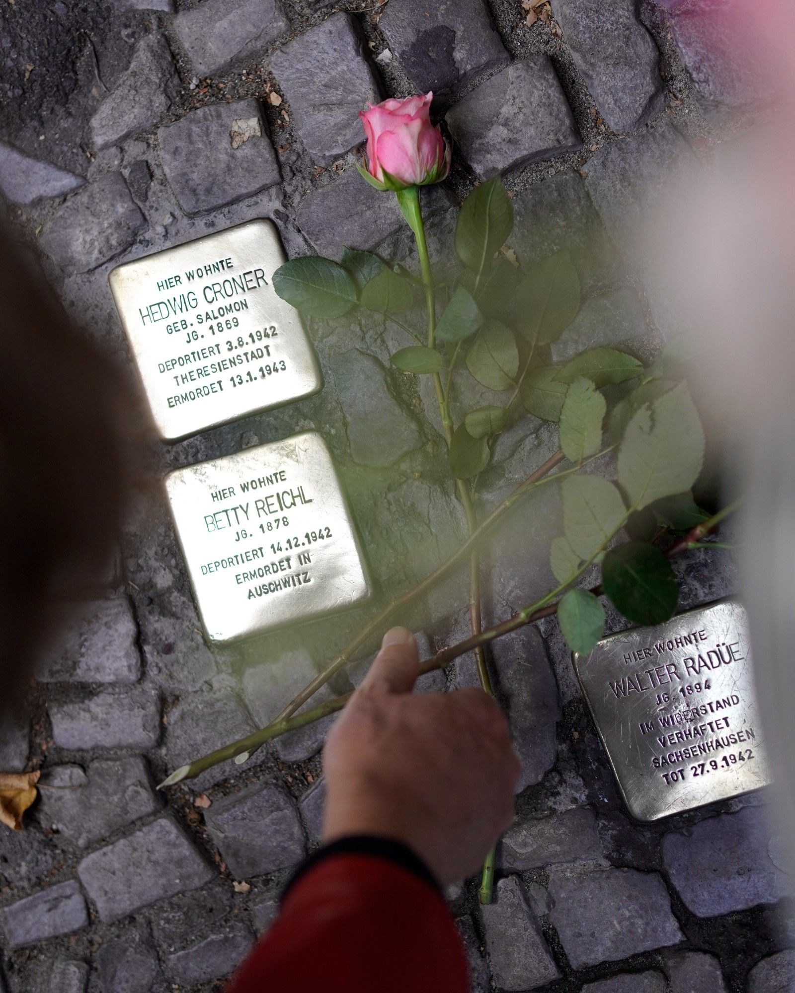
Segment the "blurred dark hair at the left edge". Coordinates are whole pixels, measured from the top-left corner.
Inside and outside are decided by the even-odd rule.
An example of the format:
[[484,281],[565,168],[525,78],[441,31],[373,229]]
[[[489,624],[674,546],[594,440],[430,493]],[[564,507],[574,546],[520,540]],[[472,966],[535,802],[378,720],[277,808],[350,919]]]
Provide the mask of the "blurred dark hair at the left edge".
[[0,225],[0,706],[70,601],[96,589],[127,491],[137,400]]

